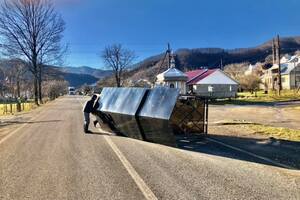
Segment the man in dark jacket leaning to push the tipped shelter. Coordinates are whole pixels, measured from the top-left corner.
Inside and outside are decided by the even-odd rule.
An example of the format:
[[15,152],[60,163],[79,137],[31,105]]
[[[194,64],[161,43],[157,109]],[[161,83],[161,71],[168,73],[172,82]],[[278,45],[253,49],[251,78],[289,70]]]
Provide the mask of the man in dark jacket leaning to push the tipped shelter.
[[89,101],[87,101],[83,107],[83,116],[84,116],[83,130],[85,133],[91,133],[91,131],[89,130],[90,113],[94,112],[99,107],[99,103],[98,102],[95,103],[96,99],[97,99],[97,95],[94,94],[92,98]]

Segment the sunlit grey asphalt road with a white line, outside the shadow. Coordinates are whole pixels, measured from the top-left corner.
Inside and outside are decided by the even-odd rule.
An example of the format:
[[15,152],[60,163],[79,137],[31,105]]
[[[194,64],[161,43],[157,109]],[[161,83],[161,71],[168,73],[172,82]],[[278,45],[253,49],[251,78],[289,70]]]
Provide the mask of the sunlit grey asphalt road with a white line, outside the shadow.
[[80,98],[56,100],[0,139],[0,199],[300,199],[299,171],[238,151],[84,134]]

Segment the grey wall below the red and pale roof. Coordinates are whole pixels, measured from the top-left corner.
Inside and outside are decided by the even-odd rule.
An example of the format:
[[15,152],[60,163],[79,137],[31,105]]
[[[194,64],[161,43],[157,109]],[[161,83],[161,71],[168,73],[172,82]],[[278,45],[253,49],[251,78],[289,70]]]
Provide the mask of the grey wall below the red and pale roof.
[[[209,88],[212,87],[212,92]],[[201,84],[193,85],[193,91],[200,96],[213,97],[213,98],[230,98],[236,97],[238,85],[225,85],[225,84]]]

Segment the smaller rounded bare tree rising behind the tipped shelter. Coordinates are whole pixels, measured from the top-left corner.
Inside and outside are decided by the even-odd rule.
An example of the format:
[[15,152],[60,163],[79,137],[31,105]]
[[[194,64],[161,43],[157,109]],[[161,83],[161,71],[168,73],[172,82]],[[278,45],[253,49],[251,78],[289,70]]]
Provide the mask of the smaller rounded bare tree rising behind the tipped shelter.
[[105,47],[101,57],[107,67],[113,70],[117,87],[121,87],[123,72],[136,58],[135,53],[121,44],[113,44]]

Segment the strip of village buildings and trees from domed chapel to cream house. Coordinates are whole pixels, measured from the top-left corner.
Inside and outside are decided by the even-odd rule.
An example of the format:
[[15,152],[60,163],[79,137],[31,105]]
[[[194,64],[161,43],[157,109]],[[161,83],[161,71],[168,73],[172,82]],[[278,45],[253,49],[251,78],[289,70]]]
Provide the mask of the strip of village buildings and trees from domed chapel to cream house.
[[233,98],[237,97],[238,91],[263,90],[267,94],[271,91],[300,90],[300,54],[280,56],[276,40],[273,40],[271,63],[259,62],[246,67],[245,63],[232,64],[224,70],[201,68],[182,72],[176,68],[172,52],[169,52],[169,60],[169,68],[156,76],[155,86],[179,88],[182,95]]

